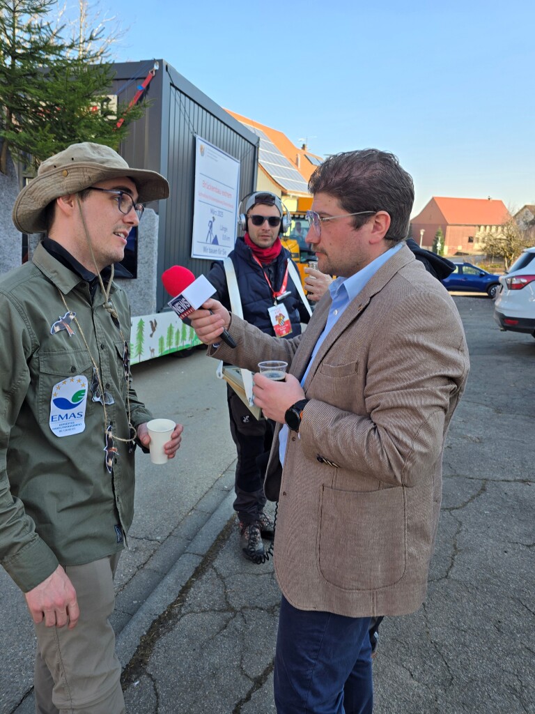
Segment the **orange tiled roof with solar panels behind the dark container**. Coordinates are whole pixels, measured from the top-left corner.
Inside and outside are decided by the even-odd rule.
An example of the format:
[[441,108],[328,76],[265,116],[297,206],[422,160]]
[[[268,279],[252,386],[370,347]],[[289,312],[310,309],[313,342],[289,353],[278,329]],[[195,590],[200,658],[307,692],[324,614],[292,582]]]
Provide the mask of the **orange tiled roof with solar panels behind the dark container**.
[[[225,111],[228,111],[229,114],[241,121],[245,126],[248,126],[252,131],[256,130],[255,134],[260,136],[259,163],[282,188],[292,193],[308,193],[308,179],[317,166],[315,160],[319,161],[319,163],[323,161],[321,156],[312,154],[308,149],[298,149],[285,134],[282,134],[282,131],[277,131],[277,129],[260,124],[254,119],[248,119],[246,116],[236,114],[235,111],[230,111],[230,109],[225,109]],[[286,167],[287,171],[280,171],[282,167],[277,167],[277,164],[273,163],[274,157],[270,156],[272,147],[269,144],[275,146],[275,149],[278,149],[290,164],[289,167]],[[299,156],[298,161],[297,156]],[[308,159],[308,156],[312,157],[312,161]],[[292,170],[297,174],[291,176]]]

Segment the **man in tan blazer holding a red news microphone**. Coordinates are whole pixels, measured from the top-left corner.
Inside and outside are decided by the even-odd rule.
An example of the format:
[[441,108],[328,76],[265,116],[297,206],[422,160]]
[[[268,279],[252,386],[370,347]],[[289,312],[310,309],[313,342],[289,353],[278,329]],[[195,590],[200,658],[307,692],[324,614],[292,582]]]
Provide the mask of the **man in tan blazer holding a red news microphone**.
[[397,158],[330,156],[309,188],[307,238],[339,277],[305,333],[266,336],[212,300],[192,322],[217,358],[290,363],[285,381],[255,374],[254,388],[277,422],[265,477],[279,502],[277,712],[370,714],[368,625],[424,600],[469,359],[452,298],[404,243],[414,188]]

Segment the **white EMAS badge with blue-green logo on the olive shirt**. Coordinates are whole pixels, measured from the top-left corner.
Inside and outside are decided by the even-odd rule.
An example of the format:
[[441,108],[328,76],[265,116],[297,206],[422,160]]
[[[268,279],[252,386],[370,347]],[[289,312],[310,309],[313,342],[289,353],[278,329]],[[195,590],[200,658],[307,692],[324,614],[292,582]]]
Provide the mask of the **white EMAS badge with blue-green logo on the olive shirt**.
[[87,379],[77,374],[58,382],[50,400],[50,428],[56,436],[79,434],[86,428]]

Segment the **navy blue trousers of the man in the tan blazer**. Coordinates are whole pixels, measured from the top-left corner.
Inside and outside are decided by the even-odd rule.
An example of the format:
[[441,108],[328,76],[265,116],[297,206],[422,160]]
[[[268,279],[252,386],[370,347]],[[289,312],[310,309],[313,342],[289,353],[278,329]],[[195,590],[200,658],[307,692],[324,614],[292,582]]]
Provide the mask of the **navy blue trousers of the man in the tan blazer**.
[[284,595],[275,652],[277,714],[371,714],[370,618],[297,610]]

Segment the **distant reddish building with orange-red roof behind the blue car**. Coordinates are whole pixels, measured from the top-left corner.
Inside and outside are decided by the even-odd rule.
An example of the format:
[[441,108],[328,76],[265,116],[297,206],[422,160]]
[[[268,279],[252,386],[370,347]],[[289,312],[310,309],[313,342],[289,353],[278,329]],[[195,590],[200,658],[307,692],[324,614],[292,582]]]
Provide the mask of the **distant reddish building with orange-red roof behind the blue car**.
[[503,201],[433,196],[427,206],[412,218],[412,238],[431,250],[434,236],[442,228],[444,256],[470,256],[481,253],[481,235],[497,231],[509,217]]

